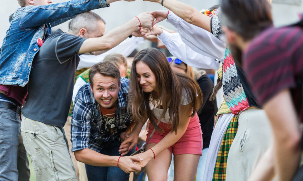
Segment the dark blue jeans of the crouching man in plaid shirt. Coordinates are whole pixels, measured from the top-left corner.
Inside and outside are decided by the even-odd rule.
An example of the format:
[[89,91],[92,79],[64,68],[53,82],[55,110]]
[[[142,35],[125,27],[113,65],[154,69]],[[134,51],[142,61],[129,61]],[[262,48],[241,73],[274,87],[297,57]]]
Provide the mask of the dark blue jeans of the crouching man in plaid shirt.
[[[101,154],[120,156],[118,150],[121,142],[115,139],[101,150]],[[131,151],[132,152],[132,151]],[[128,153],[127,155],[130,155]],[[118,167],[98,167],[85,164],[88,181],[128,181],[129,174]]]

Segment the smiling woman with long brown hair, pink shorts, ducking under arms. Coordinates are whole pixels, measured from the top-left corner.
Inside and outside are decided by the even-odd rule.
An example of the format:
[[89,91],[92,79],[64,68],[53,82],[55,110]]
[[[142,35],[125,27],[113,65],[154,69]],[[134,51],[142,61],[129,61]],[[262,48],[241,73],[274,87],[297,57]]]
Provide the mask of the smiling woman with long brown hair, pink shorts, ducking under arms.
[[[122,155],[131,149],[147,119],[150,126],[145,152],[138,155],[149,181],[166,181],[174,154],[174,180],[194,180],[202,150],[202,132],[196,112],[203,95],[185,74],[174,73],[166,56],[155,48],[140,51],[132,63],[129,109],[137,121],[122,142]],[[154,131],[151,139],[151,133]]]

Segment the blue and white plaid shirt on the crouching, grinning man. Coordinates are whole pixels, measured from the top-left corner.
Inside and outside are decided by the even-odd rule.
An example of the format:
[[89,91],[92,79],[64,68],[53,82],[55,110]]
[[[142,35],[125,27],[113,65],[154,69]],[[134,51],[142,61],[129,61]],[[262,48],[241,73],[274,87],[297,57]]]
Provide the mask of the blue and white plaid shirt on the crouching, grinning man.
[[89,148],[100,153],[104,144],[120,139],[120,133],[127,129],[131,121],[131,115],[127,113],[128,82],[128,79],[121,78],[121,89],[115,111],[115,127],[118,129],[118,134],[115,136],[103,135],[100,132],[100,126],[103,124],[102,114],[89,83],[80,88],[72,109],[72,152]]

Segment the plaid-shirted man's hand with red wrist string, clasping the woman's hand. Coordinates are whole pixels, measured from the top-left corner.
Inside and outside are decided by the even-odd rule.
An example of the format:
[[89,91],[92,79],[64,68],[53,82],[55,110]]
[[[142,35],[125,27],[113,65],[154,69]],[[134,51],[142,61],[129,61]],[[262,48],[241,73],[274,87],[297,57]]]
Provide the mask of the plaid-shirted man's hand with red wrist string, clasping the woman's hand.
[[133,162],[140,162],[140,161],[142,161],[142,158],[139,158],[137,156],[120,157],[118,166],[127,174],[131,172],[138,172],[141,170],[141,166],[139,166],[139,164],[138,165],[133,164]]

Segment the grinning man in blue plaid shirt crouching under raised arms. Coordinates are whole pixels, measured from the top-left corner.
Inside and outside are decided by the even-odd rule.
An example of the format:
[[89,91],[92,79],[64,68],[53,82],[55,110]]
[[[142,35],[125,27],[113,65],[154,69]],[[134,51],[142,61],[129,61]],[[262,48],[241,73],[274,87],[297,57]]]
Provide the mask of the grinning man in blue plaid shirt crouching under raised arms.
[[133,125],[127,113],[129,80],[111,62],[102,62],[92,66],[89,81],[72,110],[72,152],[85,163],[88,180],[128,180],[127,173],[140,169],[132,162],[139,158],[119,157]]

